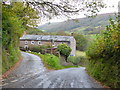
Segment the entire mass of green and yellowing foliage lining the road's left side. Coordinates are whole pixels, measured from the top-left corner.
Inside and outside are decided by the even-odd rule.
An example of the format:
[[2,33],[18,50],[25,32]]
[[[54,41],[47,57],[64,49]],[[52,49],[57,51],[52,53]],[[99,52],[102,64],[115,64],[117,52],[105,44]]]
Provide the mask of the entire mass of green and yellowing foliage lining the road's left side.
[[22,2],[2,3],[2,74],[21,59],[19,38],[37,18],[37,12]]

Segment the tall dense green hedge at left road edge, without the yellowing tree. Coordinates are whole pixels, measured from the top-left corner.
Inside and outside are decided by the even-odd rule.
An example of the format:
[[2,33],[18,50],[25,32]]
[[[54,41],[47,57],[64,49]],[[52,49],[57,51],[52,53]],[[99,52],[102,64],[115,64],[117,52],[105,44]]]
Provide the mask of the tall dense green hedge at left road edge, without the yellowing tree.
[[9,5],[2,5],[2,70],[8,70],[20,58],[19,38],[24,27]]

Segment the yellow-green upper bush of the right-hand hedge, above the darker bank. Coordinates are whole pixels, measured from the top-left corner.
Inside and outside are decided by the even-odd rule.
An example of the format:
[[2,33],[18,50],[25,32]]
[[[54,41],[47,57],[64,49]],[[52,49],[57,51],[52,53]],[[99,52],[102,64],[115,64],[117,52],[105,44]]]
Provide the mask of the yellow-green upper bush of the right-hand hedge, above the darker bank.
[[114,22],[110,19],[110,25],[108,25],[106,30],[101,33],[93,43],[90,44],[87,51],[88,56],[91,58],[108,59],[115,53],[118,53],[120,46],[119,33],[118,22]]

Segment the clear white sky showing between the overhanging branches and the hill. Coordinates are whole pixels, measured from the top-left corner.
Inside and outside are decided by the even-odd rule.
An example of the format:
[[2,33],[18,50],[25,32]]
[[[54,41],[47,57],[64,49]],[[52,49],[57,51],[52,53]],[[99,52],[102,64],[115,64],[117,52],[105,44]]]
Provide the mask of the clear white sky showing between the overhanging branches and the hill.
[[[118,12],[118,2],[119,1],[120,0],[103,0],[103,2],[107,5],[107,8],[101,9],[98,14],[117,13]],[[84,13],[80,13],[79,15],[71,16],[72,19],[83,18],[83,17],[85,17]],[[65,20],[67,20],[67,18],[61,19],[61,18],[55,17],[54,19],[47,20],[47,21],[45,21],[45,20],[42,21],[41,20],[41,22],[38,25],[43,25],[43,24],[48,23],[48,22],[62,22],[62,21],[65,21]]]

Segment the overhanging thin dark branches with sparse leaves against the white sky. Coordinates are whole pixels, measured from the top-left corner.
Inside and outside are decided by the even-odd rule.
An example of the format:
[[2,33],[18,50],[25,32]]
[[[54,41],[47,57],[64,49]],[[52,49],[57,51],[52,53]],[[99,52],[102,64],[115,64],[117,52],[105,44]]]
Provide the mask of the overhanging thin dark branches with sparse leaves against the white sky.
[[51,19],[56,16],[60,18],[67,16],[70,18],[70,16],[78,15],[80,12],[84,12],[86,16],[96,16],[101,8],[106,7],[106,5],[99,0],[32,0],[31,2],[24,0],[22,3],[38,11],[41,18],[43,17],[44,19]]

